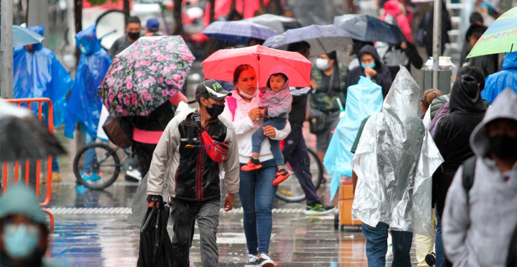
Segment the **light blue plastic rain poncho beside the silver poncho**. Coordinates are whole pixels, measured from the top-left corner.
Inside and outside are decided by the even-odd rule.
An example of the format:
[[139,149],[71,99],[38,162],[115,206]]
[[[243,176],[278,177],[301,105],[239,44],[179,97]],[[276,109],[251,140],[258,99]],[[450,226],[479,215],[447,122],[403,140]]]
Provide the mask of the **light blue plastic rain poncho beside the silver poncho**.
[[357,136],[361,121],[367,116],[381,111],[383,105],[382,87],[366,77],[360,77],[357,85],[348,87],[346,93],[345,114],[341,118],[336,132],[330,140],[323,165],[330,180],[330,199],[334,198],[339,188],[339,177],[352,176],[352,158],[350,152]]

